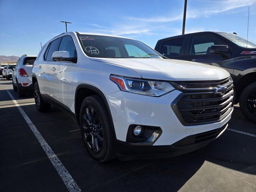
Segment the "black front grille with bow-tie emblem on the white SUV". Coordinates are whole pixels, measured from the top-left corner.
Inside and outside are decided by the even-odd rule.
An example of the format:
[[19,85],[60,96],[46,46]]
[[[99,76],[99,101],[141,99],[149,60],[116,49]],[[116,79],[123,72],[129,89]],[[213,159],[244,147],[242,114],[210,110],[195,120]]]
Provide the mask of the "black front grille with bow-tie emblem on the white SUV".
[[[175,82],[174,86],[183,93],[172,103],[172,108],[184,125],[218,122],[232,111],[234,86],[231,78],[212,82]],[[216,92],[220,87],[224,89]]]

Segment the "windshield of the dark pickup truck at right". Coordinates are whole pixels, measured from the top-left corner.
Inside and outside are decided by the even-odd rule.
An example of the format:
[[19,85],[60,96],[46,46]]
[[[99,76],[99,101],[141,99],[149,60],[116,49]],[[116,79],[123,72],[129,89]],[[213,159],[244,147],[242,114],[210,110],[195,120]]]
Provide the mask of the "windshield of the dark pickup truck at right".
[[236,34],[233,33],[218,33],[221,36],[224,36],[225,38],[227,38],[228,40],[232,41],[233,43],[237,44],[238,46],[241,47],[247,47],[247,48],[256,48],[256,43],[251,41],[251,40],[246,40],[246,38],[238,36]]

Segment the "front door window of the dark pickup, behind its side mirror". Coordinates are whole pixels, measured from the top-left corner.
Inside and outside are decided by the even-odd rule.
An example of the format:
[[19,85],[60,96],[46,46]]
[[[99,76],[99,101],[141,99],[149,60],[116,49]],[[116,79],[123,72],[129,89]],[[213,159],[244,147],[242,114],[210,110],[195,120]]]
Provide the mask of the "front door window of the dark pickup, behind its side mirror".
[[211,36],[194,36],[192,37],[190,46],[190,55],[210,54],[210,47],[212,45],[222,45],[222,43]]

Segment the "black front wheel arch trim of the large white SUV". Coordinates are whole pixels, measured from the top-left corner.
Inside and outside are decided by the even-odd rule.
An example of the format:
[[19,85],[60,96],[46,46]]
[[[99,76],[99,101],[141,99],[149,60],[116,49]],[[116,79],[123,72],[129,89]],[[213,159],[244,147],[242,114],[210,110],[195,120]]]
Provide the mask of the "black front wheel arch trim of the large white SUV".
[[108,111],[110,124],[113,129],[113,133],[114,133],[114,138],[116,138],[116,132],[114,129],[114,123],[113,123],[112,114],[111,114],[111,111],[110,111],[110,108],[108,105],[108,101],[107,101],[105,95],[103,94],[103,92],[100,89],[96,88],[95,86],[92,86],[89,84],[80,84],[76,88],[74,106],[75,106],[75,114],[76,114],[78,124],[80,124],[80,119],[79,119],[80,118],[80,104],[82,104],[82,101],[84,100],[84,98],[86,98],[88,96],[92,96],[92,95],[98,95],[102,99],[102,101]]

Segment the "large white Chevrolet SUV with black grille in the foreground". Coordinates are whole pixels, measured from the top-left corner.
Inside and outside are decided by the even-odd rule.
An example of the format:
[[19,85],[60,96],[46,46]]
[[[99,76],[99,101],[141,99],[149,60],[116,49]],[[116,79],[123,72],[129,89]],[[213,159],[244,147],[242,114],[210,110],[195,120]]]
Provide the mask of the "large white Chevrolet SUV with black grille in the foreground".
[[120,36],[56,36],[38,54],[32,81],[36,108],[68,112],[100,162],[196,150],[224,132],[233,111],[226,70],[166,59]]

